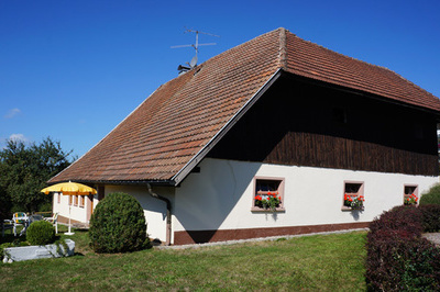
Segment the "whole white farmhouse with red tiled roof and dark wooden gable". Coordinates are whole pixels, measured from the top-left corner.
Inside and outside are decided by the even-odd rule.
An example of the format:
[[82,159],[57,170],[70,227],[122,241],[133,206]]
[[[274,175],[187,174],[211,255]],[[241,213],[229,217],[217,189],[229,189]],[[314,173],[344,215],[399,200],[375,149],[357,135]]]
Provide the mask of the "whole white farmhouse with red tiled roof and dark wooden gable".
[[50,183],[98,189],[72,198],[84,223],[108,193],[135,196],[167,244],[365,227],[438,182],[439,117],[392,70],[277,29],[157,88]]

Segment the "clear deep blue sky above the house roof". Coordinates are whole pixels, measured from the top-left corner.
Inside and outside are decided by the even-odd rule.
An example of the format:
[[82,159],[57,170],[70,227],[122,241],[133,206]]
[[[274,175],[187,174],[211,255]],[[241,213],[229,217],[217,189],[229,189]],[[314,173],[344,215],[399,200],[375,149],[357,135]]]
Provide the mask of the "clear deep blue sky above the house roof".
[[158,86],[200,35],[199,64],[285,27],[389,68],[440,97],[440,1],[0,0],[0,147],[51,136],[84,155]]

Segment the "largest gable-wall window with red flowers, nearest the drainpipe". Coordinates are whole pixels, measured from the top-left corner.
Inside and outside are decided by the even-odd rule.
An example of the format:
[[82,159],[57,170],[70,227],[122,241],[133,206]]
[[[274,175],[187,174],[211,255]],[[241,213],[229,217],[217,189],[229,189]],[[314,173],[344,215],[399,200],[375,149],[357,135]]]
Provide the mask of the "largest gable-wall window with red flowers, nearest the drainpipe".
[[284,211],[284,179],[254,178],[251,211]]

